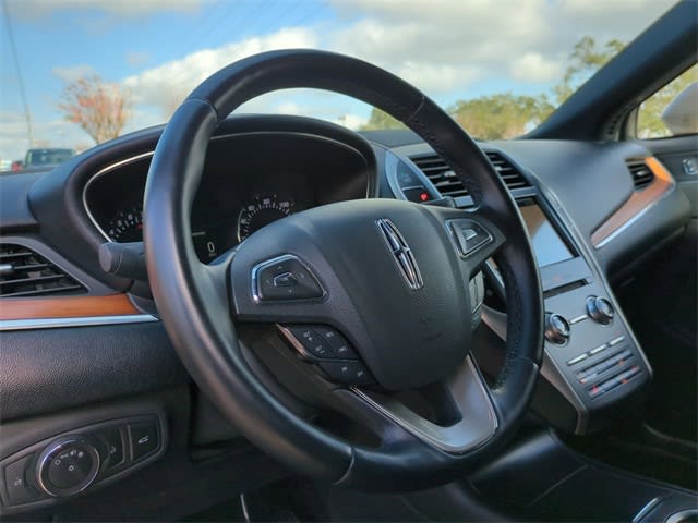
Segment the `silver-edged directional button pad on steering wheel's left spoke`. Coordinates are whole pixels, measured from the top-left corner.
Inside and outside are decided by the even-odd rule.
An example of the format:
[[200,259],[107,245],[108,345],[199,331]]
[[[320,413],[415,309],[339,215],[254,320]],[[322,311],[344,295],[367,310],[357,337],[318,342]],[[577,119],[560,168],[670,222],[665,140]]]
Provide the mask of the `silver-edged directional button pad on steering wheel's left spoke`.
[[313,300],[325,294],[310,269],[290,254],[252,269],[252,293],[257,301]]

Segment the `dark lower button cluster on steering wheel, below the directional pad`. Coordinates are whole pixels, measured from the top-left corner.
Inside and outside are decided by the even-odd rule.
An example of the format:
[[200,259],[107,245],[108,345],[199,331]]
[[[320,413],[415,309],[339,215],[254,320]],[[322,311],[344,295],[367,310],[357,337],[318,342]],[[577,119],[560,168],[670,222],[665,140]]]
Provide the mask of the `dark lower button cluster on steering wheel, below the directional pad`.
[[347,339],[325,325],[287,326],[287,338],[301,357],[316,363],[333,381],[342,385],[371,385],[373,377]]

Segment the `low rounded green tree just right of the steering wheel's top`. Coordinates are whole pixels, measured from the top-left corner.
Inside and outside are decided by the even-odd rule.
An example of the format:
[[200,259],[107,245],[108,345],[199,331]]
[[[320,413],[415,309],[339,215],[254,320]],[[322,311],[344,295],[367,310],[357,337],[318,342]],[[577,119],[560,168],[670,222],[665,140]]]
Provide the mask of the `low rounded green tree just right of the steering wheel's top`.
[[481,139],[506,139],[538,125],[551,111],[547,97],[517,96],[512,93],[459,100],[448,113],[465,130]]

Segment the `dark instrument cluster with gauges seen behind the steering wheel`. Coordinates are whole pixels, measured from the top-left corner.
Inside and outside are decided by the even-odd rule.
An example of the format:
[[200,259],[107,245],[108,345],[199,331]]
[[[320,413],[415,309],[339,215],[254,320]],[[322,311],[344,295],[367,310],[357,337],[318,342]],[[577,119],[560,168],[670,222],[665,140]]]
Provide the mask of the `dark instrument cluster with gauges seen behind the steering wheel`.
[[[86,183],[85,208],[105,241],[143,241],[151,157],[140,155],[107,166]],[[365,197],[364,174],[365,160],[354,149],[308,135],[212,141],[192,208],[192,242],[198,258],[210,262],[291,214]]]

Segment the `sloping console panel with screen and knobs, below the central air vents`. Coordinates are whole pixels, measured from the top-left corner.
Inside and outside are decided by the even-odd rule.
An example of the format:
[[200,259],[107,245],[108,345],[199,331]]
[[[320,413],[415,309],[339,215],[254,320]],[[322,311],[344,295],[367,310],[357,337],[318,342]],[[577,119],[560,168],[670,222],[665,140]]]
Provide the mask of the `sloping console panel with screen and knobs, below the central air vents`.
[[[650,366],[615,299],[571,228],[542,194],[517,198],[541,272],[545,302],[545,353],[541,374],[576,415],[562,422],[547,396],[533,405],[556,425],[585,434],[604,423],[597,415],[643,388]],[[496,266],[490,266],[501,283]],[[571,426],[574,423],[574,426]]]

